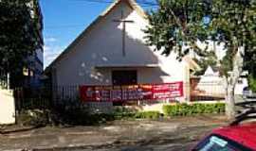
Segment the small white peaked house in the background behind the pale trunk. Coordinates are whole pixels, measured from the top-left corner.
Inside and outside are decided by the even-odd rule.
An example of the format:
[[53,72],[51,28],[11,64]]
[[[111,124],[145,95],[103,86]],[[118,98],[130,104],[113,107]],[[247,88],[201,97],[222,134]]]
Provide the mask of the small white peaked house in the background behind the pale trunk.
[[[205,74],[200,76],[199,82],[195,90],[202,95],[212,95],[216,97],[225,96],[225,81],[224,77],[220,76],[218,68],[208,67]],[[247,87],[247,72],[244,72],[238,79],[235,87],[235,94],[242,95],[243,90]]]

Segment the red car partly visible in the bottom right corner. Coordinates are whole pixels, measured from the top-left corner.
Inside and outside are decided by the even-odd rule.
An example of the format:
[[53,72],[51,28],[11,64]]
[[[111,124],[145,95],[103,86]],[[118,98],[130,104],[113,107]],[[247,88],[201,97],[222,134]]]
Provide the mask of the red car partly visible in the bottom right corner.
[[230,126],[214,129],[192,151],[256,151],[256,123],[240,125],[248,119],[256,119],[255,113],[256,109],[247,109]]

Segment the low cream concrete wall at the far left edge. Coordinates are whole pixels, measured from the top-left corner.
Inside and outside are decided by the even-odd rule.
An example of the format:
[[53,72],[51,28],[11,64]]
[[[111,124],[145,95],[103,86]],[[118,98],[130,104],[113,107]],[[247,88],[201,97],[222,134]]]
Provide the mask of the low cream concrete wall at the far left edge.
[[13,92],[0,89],[0,125],[9,124],[15,124]]

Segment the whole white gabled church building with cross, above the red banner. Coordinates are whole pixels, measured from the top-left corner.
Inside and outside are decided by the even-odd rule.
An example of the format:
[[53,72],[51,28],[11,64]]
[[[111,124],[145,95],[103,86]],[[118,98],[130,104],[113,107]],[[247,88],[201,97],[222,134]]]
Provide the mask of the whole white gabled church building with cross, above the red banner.
[[[125,25],[123,25],[125,22]],[[181,81],[190,99],[190,73],[198,65],[179,61],[145,44],[146,13],[134,0],[116,0],[47,68],[53,86],[161,84]],[[125,28],[123,28],[125,27]]]

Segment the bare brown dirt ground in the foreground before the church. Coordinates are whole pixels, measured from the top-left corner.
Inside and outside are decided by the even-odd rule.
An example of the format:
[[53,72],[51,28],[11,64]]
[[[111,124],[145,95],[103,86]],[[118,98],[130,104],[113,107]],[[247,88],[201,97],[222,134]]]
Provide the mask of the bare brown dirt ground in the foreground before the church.
[[115,121],[104,126],[44,127],[0,135],[0,150],[187,151],[223,116],[180,117],[161,121]]

